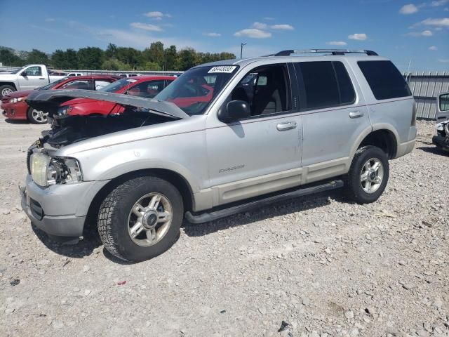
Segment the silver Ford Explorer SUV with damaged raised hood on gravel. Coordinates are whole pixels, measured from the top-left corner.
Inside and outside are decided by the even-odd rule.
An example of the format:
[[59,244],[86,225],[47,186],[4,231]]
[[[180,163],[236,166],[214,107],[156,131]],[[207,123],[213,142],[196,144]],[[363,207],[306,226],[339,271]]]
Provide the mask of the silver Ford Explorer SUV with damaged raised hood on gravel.
[[[68,116],[59,105],[73,98],[125,109]],[[54,119],[28,153],[21,190],[32,223],[76,238],[93,224],[108,251],[132,261],[169,249],[183,218],[204,223],[343,185],[350,200],[373,202],[389,159],[412,151],[416,135],[406,81],[373,51],[199,65],[153,100],[72,90],[27,103]]]

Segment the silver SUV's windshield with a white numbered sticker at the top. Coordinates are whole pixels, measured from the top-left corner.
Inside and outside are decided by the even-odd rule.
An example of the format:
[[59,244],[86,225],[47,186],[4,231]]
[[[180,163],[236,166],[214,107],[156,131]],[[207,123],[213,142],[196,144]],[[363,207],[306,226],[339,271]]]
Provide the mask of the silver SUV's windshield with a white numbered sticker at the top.
[[237,69],[237,65],[222,65],[187,70],[154,99],[175,103],[189,115],[203,114]]

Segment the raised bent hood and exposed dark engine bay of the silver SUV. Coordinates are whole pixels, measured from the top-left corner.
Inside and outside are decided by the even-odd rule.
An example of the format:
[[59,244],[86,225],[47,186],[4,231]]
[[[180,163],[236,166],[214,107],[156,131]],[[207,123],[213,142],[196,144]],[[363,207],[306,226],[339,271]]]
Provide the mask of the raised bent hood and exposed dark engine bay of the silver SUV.
[[[62,103],[73,98],[88,98],[121,105],[121,114],[67,116],[55,119]],[[29,106],[48,113],[52,121],[51,130],[43,131],[43,137],[33,146],[47,143],[62,147],[93,137],[106,135],[130,128],[160,124],[177,119],[186,119],[188,114],[173,103],[159,102],[130,95],[83,90],[36,91],[27,98]]]

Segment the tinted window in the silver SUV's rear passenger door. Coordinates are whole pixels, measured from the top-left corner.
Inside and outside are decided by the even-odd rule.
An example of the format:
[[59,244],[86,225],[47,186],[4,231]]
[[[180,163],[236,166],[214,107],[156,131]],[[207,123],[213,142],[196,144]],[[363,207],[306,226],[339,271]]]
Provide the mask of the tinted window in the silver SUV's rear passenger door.
[[356,93],[342,62],[295,63],[301,110],[354,103]]

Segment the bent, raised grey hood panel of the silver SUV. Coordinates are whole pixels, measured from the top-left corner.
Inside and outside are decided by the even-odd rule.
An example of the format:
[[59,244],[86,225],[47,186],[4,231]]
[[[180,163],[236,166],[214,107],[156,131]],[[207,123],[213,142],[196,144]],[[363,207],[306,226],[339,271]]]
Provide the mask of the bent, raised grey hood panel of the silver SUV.
[[122,95],[119,93],[107,93],[102,91],[88,90],[37,90],[30,93],[26,102],[36,110],[48,112],[50,116],[58,112],[61,103],[74,98],[88,98],[91,100],[102,100],[112,102],[123,107],[147,109],[150,113],[159,114],[165,117],[177,119],[187,119],[189,117],[175,103],[151,100],[149,98],[137,97],[133,95]]

